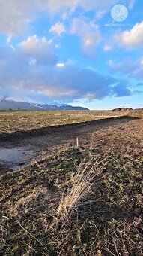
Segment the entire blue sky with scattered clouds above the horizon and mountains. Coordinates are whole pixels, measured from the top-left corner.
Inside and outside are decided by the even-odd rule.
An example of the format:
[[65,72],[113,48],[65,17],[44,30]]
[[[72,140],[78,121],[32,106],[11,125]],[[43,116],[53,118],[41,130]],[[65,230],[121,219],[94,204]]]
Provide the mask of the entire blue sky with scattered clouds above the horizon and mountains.
[[0,0],[0,99],[143,107],[143,1]]

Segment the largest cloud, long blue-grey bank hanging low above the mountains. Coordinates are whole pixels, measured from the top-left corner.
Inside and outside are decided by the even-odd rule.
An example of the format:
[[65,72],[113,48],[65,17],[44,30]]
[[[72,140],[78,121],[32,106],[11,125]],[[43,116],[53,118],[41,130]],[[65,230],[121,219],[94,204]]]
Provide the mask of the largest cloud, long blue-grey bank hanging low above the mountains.
[[[130,95],[128,84],[118,78],[81,68],[71,61],[64,66],[62,62],[57,66],[45,66],[42,61],[39,65],[39,59],[29,56],[22,47],[16,47],[15,51],[10,47],[0,49],[1,95],[8,93],[17,99],[30,97],[35,102],[71,102],[83,98]],[[121,82],[123,84],[119,86]]]

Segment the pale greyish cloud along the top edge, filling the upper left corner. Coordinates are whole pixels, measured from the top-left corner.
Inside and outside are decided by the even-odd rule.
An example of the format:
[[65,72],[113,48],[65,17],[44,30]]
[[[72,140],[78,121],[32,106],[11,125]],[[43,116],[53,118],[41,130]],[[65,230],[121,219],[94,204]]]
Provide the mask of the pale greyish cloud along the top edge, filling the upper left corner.
[[28,24],[37,19],[38,13],[62,14],[67,19],[78,5],[85,11],[105,8],[118,2],[117,0],[0,0],[0,32],[7,35],[21,35]]

